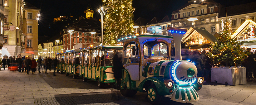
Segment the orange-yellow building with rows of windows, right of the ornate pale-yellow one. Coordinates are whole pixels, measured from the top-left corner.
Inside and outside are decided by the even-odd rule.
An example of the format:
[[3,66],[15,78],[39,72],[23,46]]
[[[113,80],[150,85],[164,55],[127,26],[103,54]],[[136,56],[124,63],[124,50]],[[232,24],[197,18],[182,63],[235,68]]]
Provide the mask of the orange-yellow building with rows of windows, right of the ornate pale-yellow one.
[[40,9],[31,5],[30,3],[25,3],[25,12],[23,16],[23,33],[25,34],[26,38],[22,44],[25,53],[34,54],[34,58],[38,58],[38,20],[40,13]]

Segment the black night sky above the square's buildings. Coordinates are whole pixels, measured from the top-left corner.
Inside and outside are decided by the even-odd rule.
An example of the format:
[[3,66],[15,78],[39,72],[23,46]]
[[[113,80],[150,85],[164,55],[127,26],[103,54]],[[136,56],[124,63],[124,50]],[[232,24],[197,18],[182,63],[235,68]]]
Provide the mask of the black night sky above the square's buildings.
[[[48,26],[54,17],[60,16],[85,16],[84,10],[91,4],[95,11],[94,18],[100,18],[97,10],[103,5],[102,0],[24,0],[35,7],[41,9],[40,21],[38,22],[38,35],[47,35]],[[166,15],[171,17],[171,13],[189,0],[133,0],[132,6],[135,8],[134,20],[139,17],[153,19],[164,18]],[[239,5],[255,0],[214,0],[223,6]]]

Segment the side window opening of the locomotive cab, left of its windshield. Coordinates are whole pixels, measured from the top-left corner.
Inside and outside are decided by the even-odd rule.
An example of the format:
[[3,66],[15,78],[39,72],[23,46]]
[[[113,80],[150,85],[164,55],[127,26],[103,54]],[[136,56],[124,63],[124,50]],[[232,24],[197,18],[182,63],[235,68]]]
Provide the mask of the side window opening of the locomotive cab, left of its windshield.
[[123,52],[123,63],[128,64],[128,63],[138,63],[138,45],[135,45],[135,42],[130,42],[127,43],[124,46],[124,52]]

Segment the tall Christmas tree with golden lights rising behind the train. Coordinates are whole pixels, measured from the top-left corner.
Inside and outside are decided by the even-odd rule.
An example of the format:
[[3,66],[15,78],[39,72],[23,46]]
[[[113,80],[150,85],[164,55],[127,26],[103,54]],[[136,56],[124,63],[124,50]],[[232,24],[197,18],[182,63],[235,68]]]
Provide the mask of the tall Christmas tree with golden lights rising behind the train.
[[133,34],[132,20],[134,8],[132,0],[103,0],[104,6],[109,7],[103,21],[104,42],[110,45],[117,44],[117,39]]

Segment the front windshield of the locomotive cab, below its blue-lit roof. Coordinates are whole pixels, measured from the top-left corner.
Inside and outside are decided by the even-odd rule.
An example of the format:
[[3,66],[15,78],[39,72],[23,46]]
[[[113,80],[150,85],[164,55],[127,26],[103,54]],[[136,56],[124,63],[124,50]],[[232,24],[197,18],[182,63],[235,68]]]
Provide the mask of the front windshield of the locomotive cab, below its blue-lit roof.
[[149,41],[143,45],[144,58],[168,57],[168,46],[163,42]]

